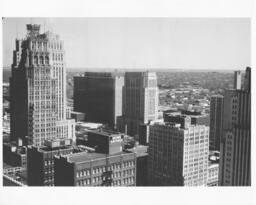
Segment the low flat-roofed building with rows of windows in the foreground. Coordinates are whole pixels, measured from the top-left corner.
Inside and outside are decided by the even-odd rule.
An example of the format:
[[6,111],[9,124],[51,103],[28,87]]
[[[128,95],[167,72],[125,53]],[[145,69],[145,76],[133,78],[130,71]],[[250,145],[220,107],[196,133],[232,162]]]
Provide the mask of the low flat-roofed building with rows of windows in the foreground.
[[135,153],[76,153],[54,161],[55,186],[136,186]]

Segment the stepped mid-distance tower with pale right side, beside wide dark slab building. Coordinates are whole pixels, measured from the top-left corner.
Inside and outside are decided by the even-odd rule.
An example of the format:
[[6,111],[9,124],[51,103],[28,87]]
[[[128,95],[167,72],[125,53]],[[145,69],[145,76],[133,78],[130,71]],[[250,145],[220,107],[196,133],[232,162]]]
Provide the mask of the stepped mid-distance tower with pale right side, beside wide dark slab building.
[[139,126],[157,119],[158,87],[155,72],[127,72],[123,89],[123,115],[118,129],[139,134]]

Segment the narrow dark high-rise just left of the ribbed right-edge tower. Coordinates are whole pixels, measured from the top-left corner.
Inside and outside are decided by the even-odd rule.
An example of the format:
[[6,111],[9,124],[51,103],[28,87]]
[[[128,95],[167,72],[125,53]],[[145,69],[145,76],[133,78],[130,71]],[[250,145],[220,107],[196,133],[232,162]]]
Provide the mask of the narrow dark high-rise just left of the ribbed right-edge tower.
[[210,106],[210,150],[220,150],[223,123],[224,98],[222,95],[211,96]]

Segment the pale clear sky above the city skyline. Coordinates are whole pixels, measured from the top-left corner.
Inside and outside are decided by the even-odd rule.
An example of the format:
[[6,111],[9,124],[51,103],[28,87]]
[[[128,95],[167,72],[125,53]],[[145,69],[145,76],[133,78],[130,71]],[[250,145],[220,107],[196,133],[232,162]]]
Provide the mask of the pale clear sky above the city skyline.
[[67,67],[245,69],[251,65],[249,19],[5,18],[3,64],[26,24],[64,41]]

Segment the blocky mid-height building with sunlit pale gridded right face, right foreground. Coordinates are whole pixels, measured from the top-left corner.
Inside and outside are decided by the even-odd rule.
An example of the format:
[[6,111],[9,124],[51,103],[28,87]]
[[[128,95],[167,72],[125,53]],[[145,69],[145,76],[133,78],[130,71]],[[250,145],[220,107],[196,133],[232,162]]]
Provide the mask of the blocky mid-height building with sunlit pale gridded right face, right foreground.
[[[189,117],[186,117],[189,118]],[[190,119],[155,123],[149,128],[148,180],[151,186],[206,186],[209,127]],[[177,123],[178,122],[178,123]]]

